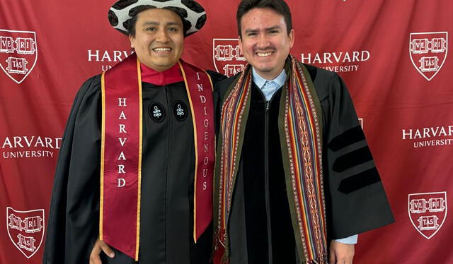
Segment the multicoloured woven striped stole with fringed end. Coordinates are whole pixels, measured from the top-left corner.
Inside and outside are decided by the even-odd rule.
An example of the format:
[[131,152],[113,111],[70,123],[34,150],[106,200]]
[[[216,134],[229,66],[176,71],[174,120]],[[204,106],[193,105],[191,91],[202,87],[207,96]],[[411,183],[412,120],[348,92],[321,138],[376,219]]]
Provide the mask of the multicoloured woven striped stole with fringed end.
[[[251,72],[251,66],[246,66],[222,104],[219,163],[214,177],[216,264],[229,263],[226,229],[250,107]],[[327,263],[321,107],[308,71],[293,56],[287,72],[289,81],[282,88],[278,123],[285,181],[287,190],[292,190],[288,201],[294,236],[302,263]]]

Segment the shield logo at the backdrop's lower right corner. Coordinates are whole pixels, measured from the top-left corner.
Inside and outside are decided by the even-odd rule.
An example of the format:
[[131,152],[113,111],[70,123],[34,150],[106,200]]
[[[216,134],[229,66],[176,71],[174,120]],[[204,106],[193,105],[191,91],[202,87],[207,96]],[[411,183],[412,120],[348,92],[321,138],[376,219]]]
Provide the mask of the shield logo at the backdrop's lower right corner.
[[432,238],[447,217],[447,192],[409,194],[408,212],[413,227],[426,239]]

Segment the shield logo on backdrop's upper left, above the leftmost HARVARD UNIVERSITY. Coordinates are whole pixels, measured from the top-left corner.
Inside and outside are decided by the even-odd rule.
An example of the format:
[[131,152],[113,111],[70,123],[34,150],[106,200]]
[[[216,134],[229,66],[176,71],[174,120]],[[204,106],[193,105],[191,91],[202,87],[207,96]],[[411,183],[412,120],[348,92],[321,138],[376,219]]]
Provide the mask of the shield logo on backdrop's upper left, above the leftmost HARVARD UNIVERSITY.
[[0,67],[9,78],[22,83],[38,59],[36,33],[0,30]]

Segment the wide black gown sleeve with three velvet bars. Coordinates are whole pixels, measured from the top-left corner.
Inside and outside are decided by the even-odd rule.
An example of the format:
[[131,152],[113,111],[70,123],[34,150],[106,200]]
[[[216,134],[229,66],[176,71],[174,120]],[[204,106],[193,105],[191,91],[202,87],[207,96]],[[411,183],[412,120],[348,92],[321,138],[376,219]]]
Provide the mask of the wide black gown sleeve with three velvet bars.
[[342,239],[394,217],[345,83],[336,73],[318,75],[327,80],[320,100],[328,230],[330,239]]

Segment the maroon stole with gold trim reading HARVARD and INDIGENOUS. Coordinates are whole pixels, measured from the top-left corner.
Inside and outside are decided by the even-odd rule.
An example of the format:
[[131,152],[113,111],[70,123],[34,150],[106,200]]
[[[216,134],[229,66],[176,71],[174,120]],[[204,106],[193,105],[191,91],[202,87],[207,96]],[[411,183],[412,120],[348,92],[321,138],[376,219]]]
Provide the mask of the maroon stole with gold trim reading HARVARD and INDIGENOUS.
[[[212,220],[214,107],[210,76],[178,62],[193,117],[195,242]],[[138,261],[142,180],[142,76],[135,54],[104,72],[99,239]],[[148,76],[149,77],[149,76]],[[173,76],[174,77],[174,76]],[[149,77],[153,79],[153,77]],[[154,78],[155,79],[155,78]],[[179,78],[176,76],[176,79]],[[147,78],[145,78],[147,80]]]

